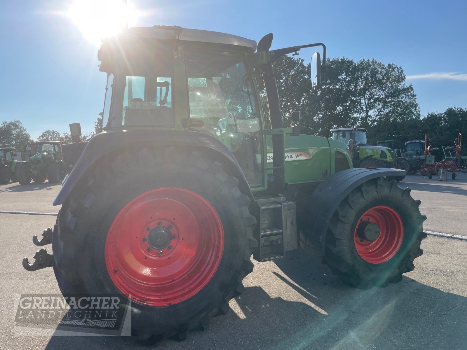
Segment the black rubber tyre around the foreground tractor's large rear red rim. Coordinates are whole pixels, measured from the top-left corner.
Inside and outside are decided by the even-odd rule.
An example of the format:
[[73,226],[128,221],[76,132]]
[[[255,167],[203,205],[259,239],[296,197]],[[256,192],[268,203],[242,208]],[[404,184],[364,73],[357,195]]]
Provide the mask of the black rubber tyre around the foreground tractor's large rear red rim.
[[[154,191],[163,189],[170,193],[172,188],[174,193],[179,189],[196,193],[212,205],[222,224],[225,244],[217,270],[209,280],[205,280],[206,284],[202,289],[187,299],[181,297],[181,301],[154,306],[157,301],[149,302],[149,298],[147,301],[133,300],[132,296],[131,303],[131,332],[137,339],[153,342],[164,337],[173,337],[183,340],[189,330],[205,330],[209,327],[211,317],[224,315],[229,309],[228,301],[243,292],[243,278],[253,271],[250,256],[257,242],[253,238],[256,220],[248,209],[250,199],[240,192],[238,179],[227,175],[222,164],[208,160],[198,151],[168,147],[146,148],[125,154],[136,154],[136,157],[109,157],[92,174],[82,179],[62,206],[58,232],[59,239],[63,242],[63,252],[56,257],[55,269],[59,287],[64,295],[117,293],[121,295],[121,304],[125,304],[127,295],[122,292],[120,282],[115,280],[115,276],[111,277],[111,273],[119,270],[111,269],[109,273],[110,263],[108,256],[105,256],[106,245],[115,239],[115,235],[109,236],[113,232],[110,228],[122,212],[126,213],[128,205],[139,203],[138,198],[144,198]],[[175,200],[171,195],[166,198]],[[160,215],[159,210],[150,212],[148,217],[154,216],[151,216],[151,220],[157,222],[160,219],[160,224],[170,230],[176,230],[177,224],[184,222],[184,216],[180,217],[178,212],[174,212],[173,218],[179,221],[173,221],[172,228],[172,224],[164,222],[172,221],[171,216],[166,219],[156,217]],[[160,224],[151,226],[158,227]],[[143,225],[147,226],[148,223],[144,222]],[[119,224],[115,227],[119,227]],[[137,225],[134,227],[130,235],[131,238],[135,237],[134,244],[139,245],[142,237],[145,237],[143,235],[148,234],[149,228],[146,231],[144,227],[141,232],[136,229]],[[193,230],[196,230],[196,226]],[[178,239],[178,243],[173,245],[173,249],[170,248],[171,252],[176,252],[182,234],[189,237],[186,236],[186,230],[174,234],[178,238],[172,238]],[[52,248],[60,251],[55,245],[60,242],[55,242],[54,240]],[[148,241],[144,242],[149,242],[149,236]],[[164,249],[167,248],[161,248],[164,251],[161,258],[166,254]],[[144,257],[141,259],[143,264],[155,259],[149,255],[153,252],[148,251],[147,260]],[[172,263],[177,263],[176,259],[172,260]],[[127,273],[125,270],[124,272]],[[130,276],[130,279],[136,278],[134,275]],[[150,296],[150,293],[157,292],[160,293],[158,289],[151,289],[147,293]]]

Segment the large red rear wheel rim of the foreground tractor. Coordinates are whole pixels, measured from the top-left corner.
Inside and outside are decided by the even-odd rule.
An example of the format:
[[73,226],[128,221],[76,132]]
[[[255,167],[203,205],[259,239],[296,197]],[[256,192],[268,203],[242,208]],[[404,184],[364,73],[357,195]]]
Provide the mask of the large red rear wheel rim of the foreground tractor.
[[127,203],[107,233],[105,259],[115,287],[151,306],[197,294],[219,267],[224,230],[212,205],[195,192],[160,188]]

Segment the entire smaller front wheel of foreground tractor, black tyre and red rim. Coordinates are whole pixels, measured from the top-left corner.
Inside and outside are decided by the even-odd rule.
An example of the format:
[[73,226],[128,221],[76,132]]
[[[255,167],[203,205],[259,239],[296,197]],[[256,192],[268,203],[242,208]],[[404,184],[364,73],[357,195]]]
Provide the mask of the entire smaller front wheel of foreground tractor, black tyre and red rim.
[[[420,243],[426,237],[422,228],[426,217],[420,214],[419,205],[420,201],[410,196],[410,189],[400,188],[396,181],[365,182],[333,214],[325,241],[325,264],[354,287],[385,287],[399,282],[403,273],[414,269],[414,259],[423,254]],[[362,224],[370,222],[366,220],[371,212],[388,214],[382,216],[379,237],[374,241],[361,239],[359,231]]]

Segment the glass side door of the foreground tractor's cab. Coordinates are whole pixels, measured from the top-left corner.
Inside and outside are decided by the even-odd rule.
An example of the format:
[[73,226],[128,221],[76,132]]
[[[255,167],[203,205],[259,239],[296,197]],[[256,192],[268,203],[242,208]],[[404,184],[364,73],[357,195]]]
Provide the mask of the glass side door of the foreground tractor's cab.
[[262,185],[259,113],[245,56],[199,49],[185,53],[193,129],[226,144],[250,185]]

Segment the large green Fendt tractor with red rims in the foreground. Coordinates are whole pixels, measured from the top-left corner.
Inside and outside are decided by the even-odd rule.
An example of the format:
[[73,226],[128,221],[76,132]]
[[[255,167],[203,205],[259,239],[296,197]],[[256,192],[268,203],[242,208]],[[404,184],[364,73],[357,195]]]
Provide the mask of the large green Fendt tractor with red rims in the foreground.
[[[313,85],[322,43],[270,50],[224,33],[178,26],[129,28],[104,40],[112,83],[103,133],[63,145],[69,171],[54,228],[36,245],[34,271],[53,266],[62,293],[131,300],[131,332],[154,342],[209,327],[259,262],[301,247],[352,286],[402,280],[422,255],[426,219],[391,176],[352,168],[338,140],[283,127],[273,65],[304,48]],[[323,62],[323,64],[321,64]],[[256,74],[255,74],[256,73]],[[271,128],[265,127],[261,76]],[[313,266],[303,266],[313,271]]]

